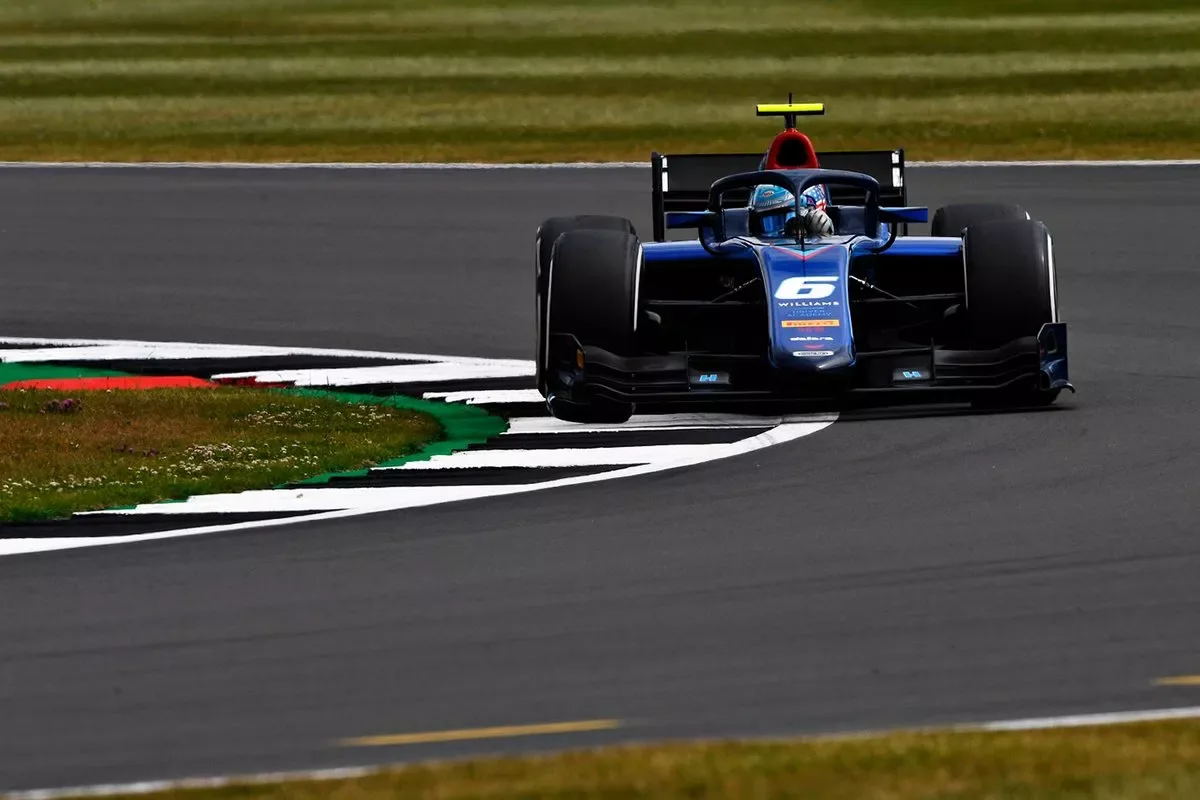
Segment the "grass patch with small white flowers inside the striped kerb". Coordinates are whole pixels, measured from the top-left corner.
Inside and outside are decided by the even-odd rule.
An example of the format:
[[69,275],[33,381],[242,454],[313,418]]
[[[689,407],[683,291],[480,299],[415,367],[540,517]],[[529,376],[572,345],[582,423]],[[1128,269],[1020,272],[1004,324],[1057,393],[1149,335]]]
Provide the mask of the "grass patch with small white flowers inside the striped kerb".
[[256,389],[0,392],[0,522],[361,469],[440,434],[426,415],[355,397]]

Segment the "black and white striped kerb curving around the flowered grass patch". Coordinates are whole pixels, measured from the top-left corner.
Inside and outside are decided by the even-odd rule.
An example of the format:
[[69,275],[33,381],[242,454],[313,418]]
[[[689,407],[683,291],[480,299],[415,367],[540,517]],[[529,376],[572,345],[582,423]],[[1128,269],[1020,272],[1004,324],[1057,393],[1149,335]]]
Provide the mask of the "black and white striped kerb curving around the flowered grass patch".
[[[5,344],[17,345],[5,348]],[[239,360],[262,360],[280,356],[322,356],[394,361],[383,366],[346,366],[329,368],[254,368],[250,361],[238,368]],[[192,344],[184,342],[136,342],[120,339],[48,339],[0,338],[0,361],[23,363],[104,363],[112,361],[208,363],[220,369],[216,379],[245,378],[258,383],[282,383],[311,387],[338,387],[346,391],[382,387],[385,392],[434,397],[449,401],[476,401],[490,409],[503,410],[511,405],[520,409],[516,428],[499,439],[518,446],[484,444],[450,455],[408,462],[392,468],[368,470],[378,480],[356,485],[311,485],[287,488],[257,489],[239,493],[208,494],[181,503],[149,503],[132,509],[78,513],[77,521],[145,519],[156,529],[124,535],[77,536],[67,529],[65,535],[42,535],[0,539],[0,555],[16,555],[79,547],[104,547],[133,542],[158,541],[203,534],[250,530],[254,528],[340,519],[356,515],[398,511],[419,506],[457,503],[541,489],[595,483],[599,481],[634,477],[679,469],[720,458],[739,456],[762,447],[792,441],[833,425],[835,414],[738,417],[732,415],[661,415],[636,417],[628,426],[576,426],[562,423],[548,416],[528,416],[536,413],[530,395],[534,365],[514,359],[480,359],[440,356],[413,353],[379,353],[329,350],[316,348],[281,348],[260,345]],[[228,367],[228,368],[227,368]],[[199,367],[197,367],[199,368]],[[257,371],[256,371],[257,369]],[[484,383],[481,383],[484,381]],[[474,386],[473,386],[474,384]],[[446,387],[445,392],[424,392],[421,387]],[[456,390],[456,386],[462,386]],[[499,386],[499,387],[497,387]],[[511,389],[505,389],[511,386]],[[536,392],[534,391],[534,395]],[[530,409],[530,403],[534,409]],[[544,407],[542,407],[542,414]],[[508,414],[506,416],[514,416]],[[697,437],[698,429],[724,429],[731,435]],[[678,432],[674,434],[673,432]],[[515,440],[518,434],[528,440]],[[582,443],[559,434],[605,437]],[[641,439],[638,439],[641,437]],[[665,439],[665,440],[664,440]],[[648,446],[650,440],[654,446]],[[628,445],[628,446],[626,446]],[[607,470],[576,468],[613,467]],[[523,474],[516,482],[487,480],[487,470],[515,468]],[[545,468],[542,475],[535,475]],[[562,468],[572,474],[563,476]],[[558,469],[558,471],[554,471]],[[422,482],[396,481],[400,475],[430,475],[439,473],[450,480]],[[473,480],[473,475],[480,479]],[[529,480],[530,476],[534,480]],[[558,475],[558,477],[556,477]],[[392,476],[392,477],[389,477]],[[390,481],[390,483],[389,483]],[[290,515],[274,518],[236,519],[229,515]],[[181,517],[180,515],[187,515]],[[192,515],[206,517],[197,522]],[[221,517],[226,516],[226,519]],[[180,525],[172,527],[172,518]],[[98,533],[98,531],[86,531]],[[106,531],[107,534],[107,531]],[[19,534],[18,534],[19,536]]]

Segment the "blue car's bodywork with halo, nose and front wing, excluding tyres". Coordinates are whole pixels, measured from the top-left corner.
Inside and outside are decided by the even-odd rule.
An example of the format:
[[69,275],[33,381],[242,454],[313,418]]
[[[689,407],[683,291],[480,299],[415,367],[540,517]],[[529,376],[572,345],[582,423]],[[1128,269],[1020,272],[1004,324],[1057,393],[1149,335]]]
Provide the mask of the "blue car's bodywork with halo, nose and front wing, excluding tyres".
[[[722,203],[726,192],[775,185],[797,198],[800,218],[804,191],[824,184],[850,185],[865,196],[863,205],[827,207],[835,230],[827,236],[804,237],[798,227],[782,236],[758,236],[748,207]],[[970,307],[964,239],[899,235],[902,225],[928,222],[929,211],[881,206],[878,192],[878,182],[862,173],[758,170],[716,180],[704,211],[666,213],[666,228],[698,235],[640,246],[629,296],[635,319],[644,314],[643,329],[635,326],[635,332],[642,336],[644,330],[649,344],[641,350],[628,344],[605,349],[570,331],[553,333],[546,367],[552,410],[571,415],[602,401],[622,416],[634,403],[850,396],[860,402],[923,402],[1008,390],[1052,401],[1058,390],[1074,391],[1067,330],[1054,314],[1054,295],[1050,321],[1036,336],[1033,330],[1000,341],[974,330],[964,335],[955,327],[972,319],[962,313]],[[672,263],[678,266],[672,269]],[[712,287],[712,295],[684,289],[672,296],[672,287],[685,287],[691,271],[695,285]],[[646,296],[637,289],[643,281],[652,287],[643,287]],[[880,285],[894,287],[896,281],[900,295]],[[905,285],[914,289],[905,291]],[[743,290],[762,294],[730,299]],[[936,309],[934,321],[924,311],[930,307]],[[716,309],[725,315],[712,315]],[[688,321],[706,313],[710,315],[703,324]],[[923,321],[912,324],[913,315]],[[767,326],[766,336],[758,325]]]

